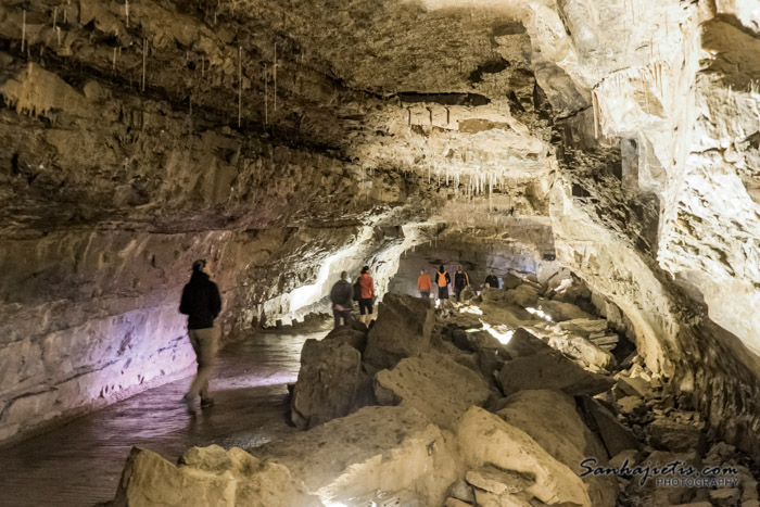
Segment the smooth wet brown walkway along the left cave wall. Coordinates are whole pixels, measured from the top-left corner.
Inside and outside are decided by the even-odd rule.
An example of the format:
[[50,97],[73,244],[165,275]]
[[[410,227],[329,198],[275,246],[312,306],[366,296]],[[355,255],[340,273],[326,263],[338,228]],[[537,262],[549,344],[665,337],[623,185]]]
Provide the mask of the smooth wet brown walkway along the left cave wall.
[[0,449],[0,504],[83,506],[113,499],[132,445],[170,461],[194,445],[253,447],[295,432],[286,420],[287,384],[301,348],[317,333],[258,333],[219,353],[216,405],[190,416],[179,403],[190,379],[144,391],[48,433]]

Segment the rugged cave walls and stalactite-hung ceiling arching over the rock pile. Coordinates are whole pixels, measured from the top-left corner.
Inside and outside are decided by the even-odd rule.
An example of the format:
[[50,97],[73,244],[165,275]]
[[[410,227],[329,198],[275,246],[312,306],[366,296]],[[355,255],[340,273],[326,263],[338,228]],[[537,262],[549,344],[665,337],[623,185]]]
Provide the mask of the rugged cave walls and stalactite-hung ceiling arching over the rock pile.
[[760,20],[682,3],[3,10],[0,440],[192,366],[193,258],[231,339],[324,309],[343,269],[384,292],[445,224],[582,277],[757,448]]

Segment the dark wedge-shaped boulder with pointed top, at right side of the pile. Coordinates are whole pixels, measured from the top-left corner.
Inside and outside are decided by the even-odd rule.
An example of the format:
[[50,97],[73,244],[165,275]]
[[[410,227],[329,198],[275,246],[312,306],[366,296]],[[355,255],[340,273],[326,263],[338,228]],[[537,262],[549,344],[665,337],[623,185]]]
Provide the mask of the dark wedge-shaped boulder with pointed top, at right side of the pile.
[[524,329],[515,332],[506,348],[514,359],[504,364],[498,380],[507,395],[532,389],[598,394],[615,383],[610,377],[584,370]]

